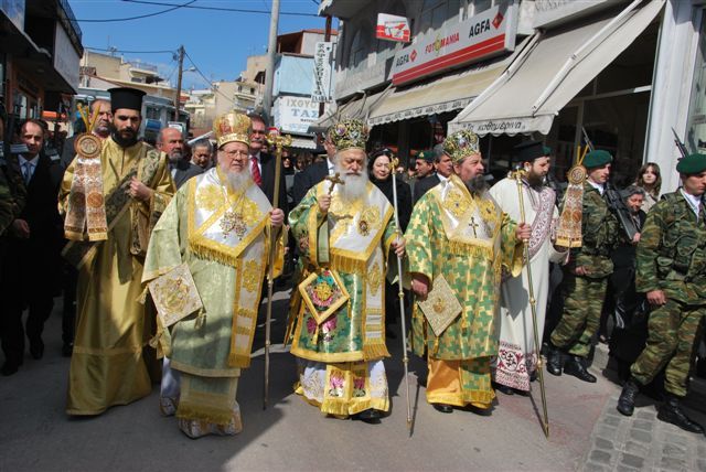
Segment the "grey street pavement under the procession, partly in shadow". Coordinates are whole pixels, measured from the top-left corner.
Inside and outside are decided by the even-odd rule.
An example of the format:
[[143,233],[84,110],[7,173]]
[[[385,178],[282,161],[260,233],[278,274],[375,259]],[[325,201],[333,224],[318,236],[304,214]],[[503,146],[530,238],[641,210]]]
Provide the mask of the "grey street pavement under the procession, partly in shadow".
[[[288,294],[280,292],[277,298],[274,340],[281,339]],[[602,376],[593,385],[547,376],[552,422],[547,441],[530,398],[501,394],[491,417],[459,410],[442,415],[427,405],[425,389],[411,373],[415,421],[409,437],[399,339],[389,341],[393,358],[386,362],[394,393],[392,414],[377,426],[324,418],[292,394],[296,364],[281,345],[272,354],[269,409],[261,409],[261,348],[242,377],[238,400],[245,429],[239,436],[186,438],[174,418],[159,415],[157,386],[150,397],[129,406],[97,418],[69,419],[64,414],[68,360],[60,353],[56,310],[44,337],[43,360],[28,355],[17,375],[0,378],[1,471],[592,471],[623,470],[623,465],[704,470],[705,465],[697,460],[706,458],[704,439],[657,422],[653,408],[639,408],[631,419],[619,417],[614,412],[619,387]],[[255,342],[256,348],[261,346],[261,335]],[[415,360],[410,369],[424,375],[422,367]],[[538,389],[536,398],[539,401]],[[536,407],[541,410],[541,405]],[[692,459],[678,462],[674,458],[683,451]]]

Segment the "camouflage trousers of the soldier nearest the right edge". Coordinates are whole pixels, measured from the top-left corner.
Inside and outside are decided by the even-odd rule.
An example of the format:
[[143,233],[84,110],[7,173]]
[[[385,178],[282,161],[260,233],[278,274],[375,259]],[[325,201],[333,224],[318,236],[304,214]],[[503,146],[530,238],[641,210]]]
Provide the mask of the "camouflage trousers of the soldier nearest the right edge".
[[648,385],[666,365],[664,389],[685,397],[705,314],[706,307],[689,307],[676,300],[654,309],[648,320],[648,345],[630,367],[632,377]]

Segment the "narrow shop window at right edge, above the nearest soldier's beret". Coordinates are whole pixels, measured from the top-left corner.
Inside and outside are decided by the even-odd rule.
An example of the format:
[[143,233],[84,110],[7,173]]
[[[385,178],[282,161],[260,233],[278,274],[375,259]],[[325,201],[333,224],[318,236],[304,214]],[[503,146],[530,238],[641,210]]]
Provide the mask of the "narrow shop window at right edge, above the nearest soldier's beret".
[[702,11],[702,28],[694,64],[694,81],[686,122],[686,148],[706,152],[706,12]]

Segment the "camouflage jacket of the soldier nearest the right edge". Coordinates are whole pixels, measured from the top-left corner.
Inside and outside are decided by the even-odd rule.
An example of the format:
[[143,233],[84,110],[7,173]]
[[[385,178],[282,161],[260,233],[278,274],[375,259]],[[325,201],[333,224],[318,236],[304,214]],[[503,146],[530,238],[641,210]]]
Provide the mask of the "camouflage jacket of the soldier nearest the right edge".
[[706,304],[706,212],[698,221],[681,191],[665,194],[638,244],[638,291],[664,290],[670,299]]

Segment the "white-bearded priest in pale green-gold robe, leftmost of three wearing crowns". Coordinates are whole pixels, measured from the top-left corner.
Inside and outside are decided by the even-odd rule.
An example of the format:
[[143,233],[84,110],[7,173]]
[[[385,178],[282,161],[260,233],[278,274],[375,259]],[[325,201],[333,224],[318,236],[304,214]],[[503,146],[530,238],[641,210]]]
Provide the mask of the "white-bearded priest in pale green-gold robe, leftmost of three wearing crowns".
[[[180,374],[178,385],[162,395],[172,391],[179,428],[190,438],[243,429],[236,391],[240,371],[250,365],[272,234],[278,235],[275,276],[284,261],[285,214],[272,210],[249,172],[250,119],[226,114],[214,122],[214,132],[218,163],[179,189],[152,232],[142,277],[145,282],[169,278],[185,265],[194,298],[203,304],[171,326],[161,320],[172,313],[159,317],[159,345]],[[174,299],[172,290],[151,290],[153,299]],[[164,305],[170,311],[174,303]]]

